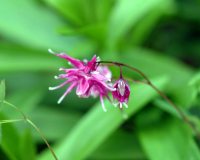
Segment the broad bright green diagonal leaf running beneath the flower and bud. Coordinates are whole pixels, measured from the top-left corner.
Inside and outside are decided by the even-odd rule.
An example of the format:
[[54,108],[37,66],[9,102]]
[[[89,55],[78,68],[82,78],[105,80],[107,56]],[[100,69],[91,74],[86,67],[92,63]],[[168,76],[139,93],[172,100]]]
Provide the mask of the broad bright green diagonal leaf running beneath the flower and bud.
[[[158,78],[153,81],[158,88],[166,85],[166,78]],[[156,92],[149,86],[131,86],[134,91],[130,98],[129,108],[124,110],[129,116],[143,108],[156,96]],[[109,135],[111,135],[125,121],[121,112],[114,108],[109,101],[105,102],[108,113],[101,109],[98,103],[76,125],[71,133],[55,147],[59,159],[85,159],[88,157]],[[49,160],[49,152],[42,154],[38,160]]]

